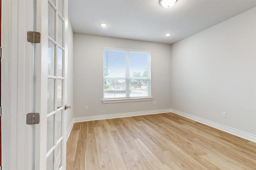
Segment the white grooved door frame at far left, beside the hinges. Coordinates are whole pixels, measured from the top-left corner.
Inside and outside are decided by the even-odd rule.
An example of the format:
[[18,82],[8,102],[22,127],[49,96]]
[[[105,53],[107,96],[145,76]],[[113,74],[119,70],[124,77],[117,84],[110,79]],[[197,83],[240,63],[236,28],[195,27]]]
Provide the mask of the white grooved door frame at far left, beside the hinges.
[[2,170],[34,169],[33,0],[2,0]]

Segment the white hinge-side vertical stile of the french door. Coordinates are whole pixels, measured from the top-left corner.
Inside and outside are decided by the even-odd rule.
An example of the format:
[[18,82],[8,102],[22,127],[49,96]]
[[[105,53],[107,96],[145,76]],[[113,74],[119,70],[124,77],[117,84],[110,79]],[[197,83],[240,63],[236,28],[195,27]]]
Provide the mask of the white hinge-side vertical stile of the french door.
[[[36,31],[41,33],[41,43],[36,46],[36,112],[41,113],[36,126],[35,169],[46,170],[46,114],[47,113],[47,49],[48,1],[36,0]],[[44,85],[43,85],[44,84]],[[42,138],[44,137],[44,139]],[[41,142],[41,140],[45,142]]]

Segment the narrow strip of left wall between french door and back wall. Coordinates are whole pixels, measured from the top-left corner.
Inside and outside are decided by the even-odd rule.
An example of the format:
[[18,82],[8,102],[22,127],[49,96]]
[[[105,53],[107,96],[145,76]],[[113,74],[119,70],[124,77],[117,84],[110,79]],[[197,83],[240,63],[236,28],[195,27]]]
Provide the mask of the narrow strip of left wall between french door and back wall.
[[70,21],[68,20],[68,94],[67,94],[67,105],[71,106],[70,109],[66,110],[67,114],[67,127],[69,130],[72,126],[72,119],[74,117],[74,102],[73,102],[73,29]]

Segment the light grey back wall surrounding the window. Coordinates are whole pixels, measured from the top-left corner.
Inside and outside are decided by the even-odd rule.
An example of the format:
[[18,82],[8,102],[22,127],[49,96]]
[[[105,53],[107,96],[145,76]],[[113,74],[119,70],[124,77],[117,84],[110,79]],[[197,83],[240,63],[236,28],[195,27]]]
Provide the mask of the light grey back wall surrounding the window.
[[[102,47],[152,52],[152,101],[103,104]],[[74,34],[74,117],[170,108],[170,45]],[[153,105],[156,101],[156,105]],[[88,106],[88,111],[84,111]]]

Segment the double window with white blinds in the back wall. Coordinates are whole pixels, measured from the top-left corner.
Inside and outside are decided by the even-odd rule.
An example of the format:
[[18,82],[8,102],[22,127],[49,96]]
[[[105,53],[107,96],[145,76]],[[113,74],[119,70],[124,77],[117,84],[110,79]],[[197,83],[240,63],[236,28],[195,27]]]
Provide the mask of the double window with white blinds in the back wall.
[[104,49],[104,99],[151,98],[151,53]]

